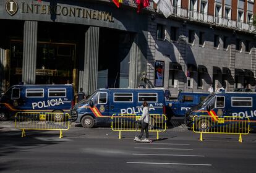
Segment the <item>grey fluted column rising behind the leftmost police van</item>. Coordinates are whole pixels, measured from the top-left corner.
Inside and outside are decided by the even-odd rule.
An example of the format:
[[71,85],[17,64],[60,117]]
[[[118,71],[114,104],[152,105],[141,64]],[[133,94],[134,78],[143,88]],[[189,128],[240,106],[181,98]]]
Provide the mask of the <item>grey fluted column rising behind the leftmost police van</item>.
[[35,84],[37,27],[36,21],[24,23],[22,82],[25,84]]

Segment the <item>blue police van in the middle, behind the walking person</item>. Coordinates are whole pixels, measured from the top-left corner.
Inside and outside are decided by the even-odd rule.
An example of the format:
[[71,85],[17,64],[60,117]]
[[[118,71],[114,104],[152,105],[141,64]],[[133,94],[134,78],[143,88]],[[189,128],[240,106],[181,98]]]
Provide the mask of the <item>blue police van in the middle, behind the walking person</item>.
[[[98,89],[72,109],[85,128],[108,124],[113,114],[142,114],[142,103],[148,102],[150,114],[165,114],[164,91],[160,89]],[[153,120],[151,120],[153,122]]]

